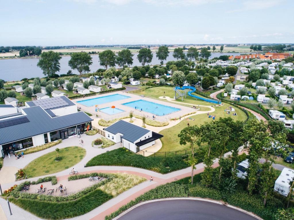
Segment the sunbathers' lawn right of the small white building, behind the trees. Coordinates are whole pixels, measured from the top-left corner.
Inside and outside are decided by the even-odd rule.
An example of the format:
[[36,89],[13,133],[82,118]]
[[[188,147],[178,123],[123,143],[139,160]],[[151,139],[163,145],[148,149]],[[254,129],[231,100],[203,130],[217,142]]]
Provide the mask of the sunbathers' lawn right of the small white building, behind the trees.
[[[220,117],[225,118],[225,117],[231,117],[234,120],[239,120],[239,121],[245,121],[247,119],[246,114],[238,109],[235,108],[235,111],[237,113],[236,116],[233,116],[232,114],[226,114],[225,108],[229,107],[229,104],[224,104],[223,106],[218,106],[215,107],[215,111],[211,113],[211,115],[216,115],[216,120],[218,120]],[[189,117],[190,118],[190,117]],[[161,138],[161,143],[162,143],[162,148],[159,150],[160,152],[164,151],[175,151],[175,150],[184,150],[190,148],[190,145],[180,145],[180,139],[178,138],[178,133],[187,126],[189,125],[198,125],[201,126],[204,122],[210,122],[213,121],[212,118],[208,118],[207,114],[199,114],[199,115],[194,115],[191,116],[192,120],[187,121],[187,120],[182,120],[180,123],[177,125],[171,127],[171,128],[166,128],[159,133],[163,135],[163,138]],[[195,119],[193,121],[193,119]]]

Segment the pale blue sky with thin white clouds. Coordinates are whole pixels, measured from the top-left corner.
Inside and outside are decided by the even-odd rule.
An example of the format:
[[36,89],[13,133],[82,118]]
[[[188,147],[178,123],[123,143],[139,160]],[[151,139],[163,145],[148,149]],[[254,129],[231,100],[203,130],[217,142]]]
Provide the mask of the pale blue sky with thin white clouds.
[[294,43],[293,0],[0,0],[0,46]]

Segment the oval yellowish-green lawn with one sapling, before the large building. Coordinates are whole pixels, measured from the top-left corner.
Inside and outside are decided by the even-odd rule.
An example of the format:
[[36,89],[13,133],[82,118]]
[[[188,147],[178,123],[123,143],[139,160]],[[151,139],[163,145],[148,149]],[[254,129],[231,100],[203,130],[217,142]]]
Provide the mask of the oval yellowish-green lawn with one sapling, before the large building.
[[86,155],[86,150],[77,146],[66,147],[60,149],[58,155],[61,158],[59,162],[55,161],[56,151],[36,158],[24,167],[26,176],[28,178],[38,177],[66,170],[80,162]]

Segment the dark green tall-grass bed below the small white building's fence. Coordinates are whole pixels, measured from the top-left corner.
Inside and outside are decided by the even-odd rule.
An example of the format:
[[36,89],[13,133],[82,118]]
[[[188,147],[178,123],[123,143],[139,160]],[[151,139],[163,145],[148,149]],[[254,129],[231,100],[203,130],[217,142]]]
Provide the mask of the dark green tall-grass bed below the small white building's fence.
[[124,148],[118,148],[109,152],[97,155],[86,164],[91,166],[133,166],[147,170],[153,170],[160,173],[168,173],[175,170],[181,170],[188,167],[182,156],[173,157],[144,157],[142,155],[132,153]]

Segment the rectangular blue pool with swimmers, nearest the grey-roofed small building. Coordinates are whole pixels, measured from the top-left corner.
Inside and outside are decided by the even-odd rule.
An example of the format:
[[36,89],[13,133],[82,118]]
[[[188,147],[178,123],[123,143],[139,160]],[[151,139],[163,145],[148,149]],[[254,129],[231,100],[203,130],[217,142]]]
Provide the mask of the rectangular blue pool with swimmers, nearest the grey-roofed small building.
[[180,111],[181,109],[174,108],[171,106],[161,105],[158,103],[154,103],[151,101],[145,101],[145,100],[137,100],[137,101],[131,101],[124,103],[123,105],[129,106],[133,109],[138,109],[140,111],[146,111],[153,115],[163,116],[167,114],[171,114],[176,111]]

